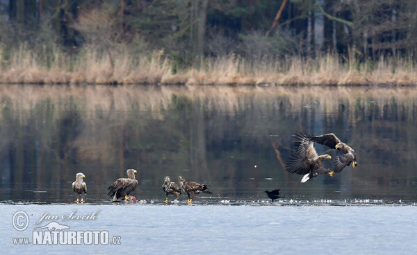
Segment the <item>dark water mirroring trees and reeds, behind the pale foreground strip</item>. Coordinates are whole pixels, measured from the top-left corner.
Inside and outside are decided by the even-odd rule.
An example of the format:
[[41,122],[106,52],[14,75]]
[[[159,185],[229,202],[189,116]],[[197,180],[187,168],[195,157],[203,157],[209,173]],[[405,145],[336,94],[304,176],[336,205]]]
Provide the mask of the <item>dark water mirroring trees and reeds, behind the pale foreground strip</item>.
[[[2,85],[0,100],[0,200],[72,202],[82,172],[87,200],[108,201],[127,168],[138,200],[164,200],[165,175],[208,184],[196,201],[417,200],[415,89]],[[300,184],[283,170],[294,132],[334,132],[359,166]]]

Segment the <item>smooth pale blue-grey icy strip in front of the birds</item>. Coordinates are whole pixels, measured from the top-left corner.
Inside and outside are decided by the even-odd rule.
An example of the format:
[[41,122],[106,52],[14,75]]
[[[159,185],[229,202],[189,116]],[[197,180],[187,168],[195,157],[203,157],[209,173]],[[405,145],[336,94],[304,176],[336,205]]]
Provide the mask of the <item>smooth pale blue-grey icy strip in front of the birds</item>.
[[[415,254],[416,206],[217,206],[217,205],[0,205],[0,245],[6,254]],[[13,228],[28,213],[24,231]],[[63,231],[108,231],[120,245],[13,245],[33,242],[35,227],[50,216]],[[42,231],[47,231],[43,229]],[[117,242],[115,242],[117,243]]]

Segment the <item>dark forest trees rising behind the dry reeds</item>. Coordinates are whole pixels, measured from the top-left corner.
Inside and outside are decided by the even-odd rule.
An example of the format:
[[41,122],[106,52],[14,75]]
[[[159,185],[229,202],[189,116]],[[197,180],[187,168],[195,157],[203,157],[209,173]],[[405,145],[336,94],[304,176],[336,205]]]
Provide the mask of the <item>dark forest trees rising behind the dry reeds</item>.
[[163,49],[181,67],[229,54],[314,58],[350,49],[375,60],[417,50],[416,7],[415,0],[1,0],[0,44],[3,62],[22,44],[70,55],[85,45]]

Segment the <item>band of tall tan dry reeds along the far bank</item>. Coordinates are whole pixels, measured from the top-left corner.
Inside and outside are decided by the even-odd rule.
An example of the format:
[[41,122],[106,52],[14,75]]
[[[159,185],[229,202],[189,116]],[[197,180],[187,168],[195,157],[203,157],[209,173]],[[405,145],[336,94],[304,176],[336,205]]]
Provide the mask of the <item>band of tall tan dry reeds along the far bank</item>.
[[[49,55],[48,55],[49,54]],[[3,54],[1,54],[3,55]],[[181,84],[181,85],[393,85],[417,84],[414,63],[400,58],[359,62],[354,54],[318,58],[286,57],[247,61],[236,55],[202,60],[200,68],[173,73],[163,51],[132,56],[127,50],[97,52],[86,47],[76,56],[58,49],[33,53],[25,47],[0,69],[8,84]]]

